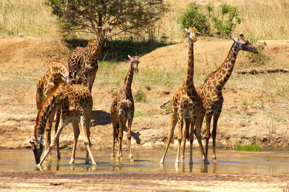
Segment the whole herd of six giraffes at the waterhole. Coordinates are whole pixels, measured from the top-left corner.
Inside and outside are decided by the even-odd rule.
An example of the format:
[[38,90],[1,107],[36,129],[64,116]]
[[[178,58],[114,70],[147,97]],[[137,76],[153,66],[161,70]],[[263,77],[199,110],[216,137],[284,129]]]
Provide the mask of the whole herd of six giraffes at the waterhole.
[[[90,142],[90,121],[92,115],[92,96],[91,90],[98,70],[97,58],[101,50],[105,37],[111,41],[110,31],[112,28],[110,23],[103,24],[102,27],[97,27],[99,35],[97,40],[88,42],[86,47],[77,47],[68,56],[68,68],[64,63],[53,60],[51,66],[48,68],[46,74],[38,81],[36,91],[36,106],[38,109],[36,125],[34,130],[34,138],[30,141],[32,150],[34,152],[35,161],[38,166],[41,166],[51,150],[56,146],[57,159],[60,159],[59,152],[59,136],[68,123],[72,123],[74,131],[73,151],[70,164],[74,163],[75,150],[77,140],[80,134],[79,123],[81,132],[84,136],[84,145],[86,146],[86,159],[85,163],[89,163],[89,156],[92,165],[96,162],[91,152]],[[171,123],[170,132],[168,134],[168,142],[164,155],[160,160],[160,164],[164,163],[164,158],[169,145],[173,139],[175,126],[178,123],[179,132],[177,136],[177,158],[175,165],[179,165],[179,153],[181,149],[181,141],[184,139],[181,162],[184,162],[184,150],[186,139],[190,143],[190,165],[192,161],[192,143],[194,135],[196,136],[199,147],[201,150],[204,164],[209,164],[208,161],[208,142],[211,137],[210,124],[213,118],[213,155],[214,163],[216,160],[216,127],[218,118],[220,116],[223,106],[222,87],[228,81],[231,72],[234,68],[236,57],[240,50],[258,53],[248,40],[240,35],[241,39],[233,39],[234,43],[231,46],[229,54],[224,63],[214,72],[210,73],[205,79],[205,82],[200,87],[195,88],[193,82],[194,76],[194,42],[201,33],[196,31],[195,25],[189,25],[189,29],[185,29],[188,34],[188,65],[184,83],[180,89],[174,94],[171,107]],[[116,161],[122,161],[122,139],[123,130],[127,126],[127,139],[129,146],[129,159],[134,162],[132,149],[131,149],[131,124],[134,118],[134,99],[131,92],[131,84],[134,72],[138,73],[139,54],[131,57],[130,68],[124,80],[124,85],[118,95],[114,98],[110,108],[110,116],[112,119],[113,128],[113,146],[111,160],[115,158],[114,148],[115,140],[118,141],[118,152]],[[73,74],[71,75],[73,71]],[[78,80],[76,80],[78,76]],[[62,80],[62,78],[64,80]],[[56,113],[55,123],[55,137],[52,142],[50,139],[51,127],[53,118]],[[206,122],[205,149],[201,141],[201,126],[203,119]],[[185,129],[183,134],[183,125],[185,121]],[[45,147],[43,145],[45,132]],[[43,148],[45,148],[44,155],[41,158]]]

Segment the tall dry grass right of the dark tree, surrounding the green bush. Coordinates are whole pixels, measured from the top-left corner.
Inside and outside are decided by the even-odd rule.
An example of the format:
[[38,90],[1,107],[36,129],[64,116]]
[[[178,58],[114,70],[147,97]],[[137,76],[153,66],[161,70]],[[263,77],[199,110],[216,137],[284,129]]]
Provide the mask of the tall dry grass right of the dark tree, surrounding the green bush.
[[[166,34],[169,38],[183,35],[179,25],[172,18],[178,18],[186,11],[186,6],[193,1],[172,0],[173,11],[167,13],[160,23],[160,35]],[[213,0],[197,0],[206,5]],[[240,12],[240,17],[246,21],[238,25],[233,32],[233,37],[246,34],[255,39],[287,39],[289,36],[289,2],[286,0],[250,1],[250,0],[223,0]],[[215,1],[220,4],[221,1]],[[215,5],[216,7],[217,5]]]

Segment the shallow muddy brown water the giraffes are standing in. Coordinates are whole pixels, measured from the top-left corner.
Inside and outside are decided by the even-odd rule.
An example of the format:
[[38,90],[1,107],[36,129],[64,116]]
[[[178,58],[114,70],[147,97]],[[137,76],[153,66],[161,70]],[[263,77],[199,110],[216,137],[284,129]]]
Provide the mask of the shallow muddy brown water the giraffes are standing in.
[[[55,152],[48,161],[42,165],[43,170],[59,173],[79,174],[113,174],[113,173],[172,173],[172,172],[207,172],[221,174],[261,174],[270,176],[289,176],[289,152],[263,151],[240,152],[234,150],[217,150],[218,163],[210,159],[209,165],[204,165],[198,150],[194,150],[192,166],[189,165],[189,154],[186,152],[185,162],[175,167],[176,150],[169,150],[164,165],[159,161],[162,150],[134,150],[134,163],[129,162],[128,152],[123,152],[121,163],[110,161],[110,150],[92,151],[97,166],[85,164],[86,152],[78,150],[75,155],[75,164],[70,165],[70,150],[61,151],[61,160],[57,161]],[[39,170],[35,165],[32,150],[0,150],[0,172],[8,171],[34,171]]]

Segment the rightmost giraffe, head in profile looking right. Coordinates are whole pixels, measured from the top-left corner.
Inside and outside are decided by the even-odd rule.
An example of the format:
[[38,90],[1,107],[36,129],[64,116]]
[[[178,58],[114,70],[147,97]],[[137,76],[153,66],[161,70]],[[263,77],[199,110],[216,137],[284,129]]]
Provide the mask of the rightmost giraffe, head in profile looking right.
[[[217,133],[217,123],[218,119],[220,117],[222,107],[223,107],[223,95],[222,95],[222,88],[225,85],[225,83],[228,81],[229,77],[231,76],[231,73],[233,71],[235,61],[237,58],[237,55],[240,50],[242,51],[249,51],[252,53],[258,53],[257,49],[251,45],[251,43],[248,40],[244,39],[244,36],[240,35],[241,40],[233,39],[234,43],[231,46],[231,49],[229,51],[229,54],[224,61],[224,63],[214,72],[208,75],[203,85],[198,87],[196,90],[199,93],[200,97],[203,100],[203,107],[199,111],[199,116],[197,120],[196,126],[202,126],[203,119],[205,117],[206,120],[206,150],[205,150],[205,156],[208,156],[208,144],[209,139],[211,137],[210,133],[210,125],[212,116],[214,116],[213,119],[213,129],[212,129],[212,138],[213,138],[213,155],[212,159],[216,163],[216,133]],[[188,130],[187,130],[188,131]],[[185,130],[186,132],[186,130]],[[188,133],[185,133],[188,134]],[[184,161],[184,150],[185,150],[185,143],[183,146],[183,153],[182,153],[182,161]],[[203,151],[201,151],[203,157]]]

